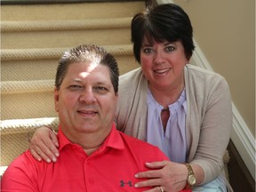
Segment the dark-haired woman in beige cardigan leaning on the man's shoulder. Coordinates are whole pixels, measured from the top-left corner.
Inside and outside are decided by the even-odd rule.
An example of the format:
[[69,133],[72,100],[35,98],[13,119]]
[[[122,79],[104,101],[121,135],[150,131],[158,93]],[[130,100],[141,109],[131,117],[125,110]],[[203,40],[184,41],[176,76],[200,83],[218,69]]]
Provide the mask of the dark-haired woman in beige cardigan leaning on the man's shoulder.
[[[117,128],[156,145],[172,160],[146,164],[152,171],[135,176],[148,180],[135,187],[227,191],[221,173],[232,127],[228,84],[188,64],[195,46],[187,13],[176,4],[138,13],[132,19],[132,43],[141,68],[120,76]],[[57,142],[52,131],[39,129],[31,153],[55,161],[58,150],[45,135]]]

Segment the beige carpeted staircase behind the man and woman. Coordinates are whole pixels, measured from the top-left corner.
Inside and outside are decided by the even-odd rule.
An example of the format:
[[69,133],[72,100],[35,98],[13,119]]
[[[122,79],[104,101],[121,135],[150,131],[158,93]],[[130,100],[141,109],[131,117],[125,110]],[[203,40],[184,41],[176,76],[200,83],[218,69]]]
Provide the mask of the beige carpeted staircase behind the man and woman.
[[138,68],[130,23],[145,1],[1,5],[1,166],[28,149],[36,127],[58,127],[53,86],[62,53],[98,44],[116,56],[120,74]]

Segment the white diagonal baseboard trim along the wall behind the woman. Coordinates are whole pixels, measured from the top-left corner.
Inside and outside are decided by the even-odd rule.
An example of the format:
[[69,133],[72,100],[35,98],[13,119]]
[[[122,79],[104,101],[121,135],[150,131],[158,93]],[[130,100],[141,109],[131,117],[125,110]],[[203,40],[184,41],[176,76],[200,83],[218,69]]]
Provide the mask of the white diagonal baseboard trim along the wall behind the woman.
[[[204,57],[204,53],[194,40],[196,49],[193,52],[193,60],[196,66],[213,71],[210,63]],[[231,140],[233,141],[238,153],[242,157],[244,164],[247,166],[252,178],[255,180],[255,145],[256,142],[250,132],[244,119],[240,116],[235,104],[232,102],[233,108],[233,131],[231,132]]]

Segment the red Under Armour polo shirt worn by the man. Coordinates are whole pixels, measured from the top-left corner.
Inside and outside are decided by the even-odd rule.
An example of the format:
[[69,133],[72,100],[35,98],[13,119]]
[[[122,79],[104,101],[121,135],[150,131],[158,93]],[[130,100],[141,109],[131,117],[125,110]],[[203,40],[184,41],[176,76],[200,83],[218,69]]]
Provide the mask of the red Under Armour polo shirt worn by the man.
[[56,163],[37,162],[29,151],[4,172],[2,191],[142,191],[134,188],[135,173],[146,171],[146,162],[168,158],[158,148],[116,131],[91,156],[71,143],[59,129],[60,157]]

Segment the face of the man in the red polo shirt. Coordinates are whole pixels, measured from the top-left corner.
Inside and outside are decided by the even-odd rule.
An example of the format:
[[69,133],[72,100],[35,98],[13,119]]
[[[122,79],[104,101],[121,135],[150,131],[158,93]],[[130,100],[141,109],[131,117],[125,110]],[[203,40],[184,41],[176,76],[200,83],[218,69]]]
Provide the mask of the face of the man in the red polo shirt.
[[106,136],[111,130],[117,95],[111,84],[109,69],[98,63],[72,63],[54,91],[55,109],[61,130],[69,140],[96,133]]

